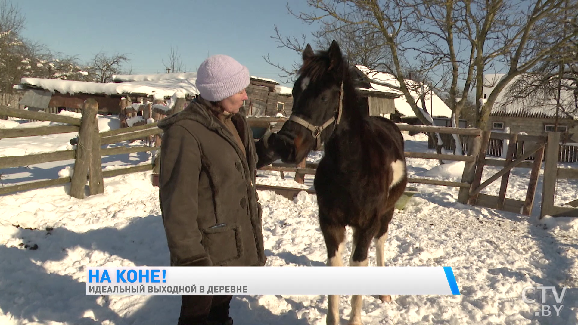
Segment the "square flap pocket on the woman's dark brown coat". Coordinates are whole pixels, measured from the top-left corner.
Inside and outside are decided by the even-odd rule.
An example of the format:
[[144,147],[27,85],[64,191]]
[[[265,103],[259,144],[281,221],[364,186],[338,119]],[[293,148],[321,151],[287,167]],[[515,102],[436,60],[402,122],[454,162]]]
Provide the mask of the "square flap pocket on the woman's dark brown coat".
[[218,224],[203,228],[202,245],[213,265],[225,264],[243,256],[241,227],[238,224]]

